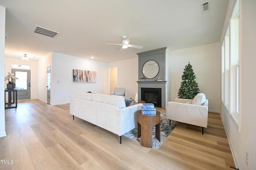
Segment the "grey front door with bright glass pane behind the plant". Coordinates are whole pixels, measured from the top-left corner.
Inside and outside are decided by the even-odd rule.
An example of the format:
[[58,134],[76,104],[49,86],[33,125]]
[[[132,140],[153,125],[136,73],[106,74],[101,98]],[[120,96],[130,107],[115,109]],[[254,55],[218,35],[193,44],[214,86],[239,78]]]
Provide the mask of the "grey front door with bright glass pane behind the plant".
[[17,99],[30,99],[30,70],[12,69],[12,73],[18,77],[15,80],[15,89],[18,90]]

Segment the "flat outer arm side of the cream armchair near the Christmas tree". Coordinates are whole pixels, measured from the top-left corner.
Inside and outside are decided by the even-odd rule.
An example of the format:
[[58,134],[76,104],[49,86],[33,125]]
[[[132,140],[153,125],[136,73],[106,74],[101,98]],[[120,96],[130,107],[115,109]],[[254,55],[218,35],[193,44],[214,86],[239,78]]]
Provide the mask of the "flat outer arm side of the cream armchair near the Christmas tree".
[[167,102],[166,118],[200,127],[207,127],[208,106]]

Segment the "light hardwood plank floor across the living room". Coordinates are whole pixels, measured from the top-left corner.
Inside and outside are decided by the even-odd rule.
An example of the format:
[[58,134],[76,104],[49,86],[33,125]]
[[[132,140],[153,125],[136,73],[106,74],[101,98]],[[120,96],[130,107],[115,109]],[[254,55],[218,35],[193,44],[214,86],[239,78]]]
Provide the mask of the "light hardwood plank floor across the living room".
[[[165,109],[158,108],[160,111]],[[235,166],[219,113],[208,128],[180,123],[160,149],[97,127],[69,113],[69,104],[18,101],[6,109],[7,136],[0,138],[1,170],[230,170]]]

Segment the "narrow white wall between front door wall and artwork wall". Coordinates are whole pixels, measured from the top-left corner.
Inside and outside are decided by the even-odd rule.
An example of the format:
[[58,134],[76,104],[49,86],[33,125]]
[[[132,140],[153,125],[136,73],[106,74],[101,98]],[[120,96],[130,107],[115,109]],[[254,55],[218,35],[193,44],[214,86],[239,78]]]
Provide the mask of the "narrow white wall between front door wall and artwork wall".
[[52,53],[38,60],[37,98],[45,103],[47,103],[47,66],[52,66]]

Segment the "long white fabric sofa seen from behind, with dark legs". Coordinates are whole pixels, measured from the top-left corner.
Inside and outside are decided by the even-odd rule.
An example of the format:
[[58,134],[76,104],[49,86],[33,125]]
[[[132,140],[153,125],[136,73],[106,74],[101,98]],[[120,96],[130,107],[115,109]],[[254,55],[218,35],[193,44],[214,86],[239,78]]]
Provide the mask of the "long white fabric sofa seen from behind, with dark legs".
[[142,104],[126,107],[124,97],[87,92],[74,92],[70,114],[120,136],[137,126],[136,111]]

